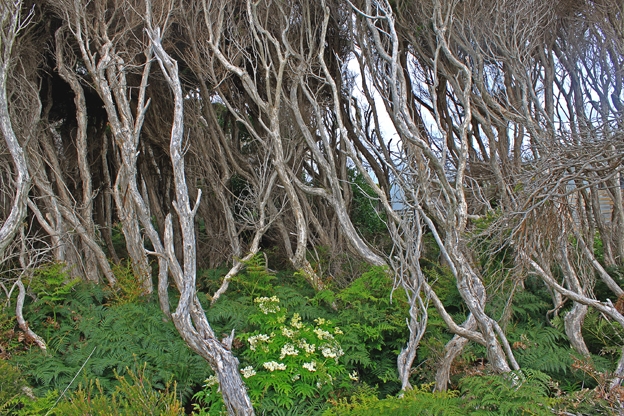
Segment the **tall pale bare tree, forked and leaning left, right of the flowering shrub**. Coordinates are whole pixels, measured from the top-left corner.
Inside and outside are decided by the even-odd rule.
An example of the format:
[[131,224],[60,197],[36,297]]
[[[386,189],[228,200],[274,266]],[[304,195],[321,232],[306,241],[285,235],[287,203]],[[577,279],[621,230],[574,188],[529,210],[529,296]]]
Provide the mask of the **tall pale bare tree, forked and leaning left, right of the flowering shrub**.
[[[406,77],[409,68],[402,67],[401,40],[392,7],[388,3],[364,2],[361,9],[355,10],[361,19],[358,42],[363,55],[362,72],[370,74],[372,79],[372,86],[367,90],[376,90],[381,94],[399,134],[401,146],[409,152],[410,169],[418,175],[417,183],[420,186],[420,195],[414,203],[434,235],[471,312],[464,328],[473,330],[471,319],[476,321],[487,347],[488,361],[495,371],[517,369],[518,365],[504,333],[498,323],[484,311],[487,302],[485,286],[478,270],[472,266],[471,254],[464,240],[470,217],[466,169],[469,162],[469,132],[473,122],[473,74],[462,59],[456,56],[449,43],[450,34],[454,30],[454,4],[434,1],[427,9],[431,13],[429,21],[433,30],[433,45],[429,55],[432,65],[431,108],[443,135],[439,147],[423,135],[419,127],[422,119],[417,118],[410,108],[411,91],[408,85],[411,84],[408,84]],[[448,107],[436,103],[436,97],[441,96],[446,100],[444,91],[447,88],[452,88],[455,105],[461,108],[455,120],[445,113]],[[397,174],[401,175],[400,169]],[[434,305],[439,304],[434,302]],[[443,311],[440,313],[444,314]],[[454,327],[456,325],[450,328],[451,331]]]

